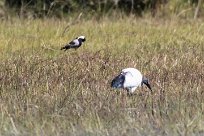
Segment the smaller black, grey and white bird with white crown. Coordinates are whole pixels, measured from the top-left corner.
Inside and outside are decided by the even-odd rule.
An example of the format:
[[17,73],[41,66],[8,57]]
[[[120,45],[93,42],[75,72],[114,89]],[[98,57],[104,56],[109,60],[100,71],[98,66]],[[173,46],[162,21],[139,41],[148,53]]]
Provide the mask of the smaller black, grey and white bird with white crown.
[[79,36],[79,37],[75,38],[74,40],[72,40],[71,42],[69,42],[68,44],[66,44],[64,47],[62,47],[61,50],[66,51],[68,49],[77,49],[85,41],[86,41],[85,36]]

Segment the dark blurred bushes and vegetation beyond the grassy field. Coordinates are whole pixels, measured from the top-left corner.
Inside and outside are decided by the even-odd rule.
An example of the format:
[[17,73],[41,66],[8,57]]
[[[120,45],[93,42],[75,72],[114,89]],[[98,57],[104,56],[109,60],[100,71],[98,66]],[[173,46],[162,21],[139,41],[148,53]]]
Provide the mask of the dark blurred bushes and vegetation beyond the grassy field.
[[85,13],[86,18],[123,13],[144,17],[203,18],[203,0],[0,0],[0,19],[66,18]]

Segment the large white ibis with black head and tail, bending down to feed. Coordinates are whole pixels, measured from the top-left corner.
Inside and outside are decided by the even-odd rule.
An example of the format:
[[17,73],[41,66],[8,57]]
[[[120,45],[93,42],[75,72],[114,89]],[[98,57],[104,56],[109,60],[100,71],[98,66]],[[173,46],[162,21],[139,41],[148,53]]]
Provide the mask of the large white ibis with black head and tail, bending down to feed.
[[123,88],[127,90],[128,94],[132,94],[137,87],[143,84],[152,91],[148,79],[144,77],[139,70],[135,68],[126,68],[112,80],[111,87]]

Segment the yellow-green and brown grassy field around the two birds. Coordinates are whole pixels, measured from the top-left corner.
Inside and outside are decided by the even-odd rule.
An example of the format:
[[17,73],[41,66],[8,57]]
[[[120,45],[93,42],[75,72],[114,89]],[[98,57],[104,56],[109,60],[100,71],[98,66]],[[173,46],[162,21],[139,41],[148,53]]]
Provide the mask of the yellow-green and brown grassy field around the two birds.
[[[0,135],[204,135],[202,21],[71,21],[1,21]],[[154,93],[110,88],[126,67]]]

